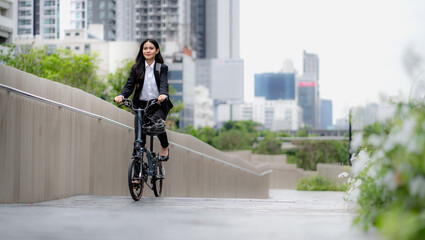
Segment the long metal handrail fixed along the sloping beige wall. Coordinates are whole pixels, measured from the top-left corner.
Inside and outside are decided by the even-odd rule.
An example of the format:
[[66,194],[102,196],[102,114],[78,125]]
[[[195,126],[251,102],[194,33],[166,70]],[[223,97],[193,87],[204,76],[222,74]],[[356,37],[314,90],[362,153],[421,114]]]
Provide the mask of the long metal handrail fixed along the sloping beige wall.
[[[101,116],[101,115],[97,115],[97,114],[94,114],[94,113],[91,113],[91,112],[87,112],[87,111],[81,110],[81,109],[79,109],[79,108],[71,107],[71,106],[69,106],[69,105],[66,105],[66,104],[63,104],[63,103],[60,103],[60,102],[56,102],[56,101],[53,101],[53,100],[50,100],[50,99],[47,99],[47,98],[43,98],[43,97],[40,97],[40,96],[37,96],[37,95],[31,94],[31,93],[28,93],[28,92],[25,92],[25,91],[22,91],[22,90],[19,90],[19,89],[16,89],[16,88],[13,88],[13,87],[7,86],[7,85],[4,85],[4,84],[0,84],[0,88],[6,89],[6,91],[10,91],[10,92],[13,92],[13,93],[16,93],[16,94],[20,94],[20,95],[23,95],[23,96],[25,96],[25,97],[28,97],[28,98],[31,98],[31,99],[34,99],[34,100],[37,100],[37,101],[40,101],[40,102],[44,102],[44,103],[51,104],[51,105],[54,105],[54,106],[57,106],[57,107],[61,107],[61,108],[64,108],[64,109],[68,109],[68,110],[70,110],[70,111],[73,111],[73,112],[76,112],[76,113],[80,113],[80,114],[83,114],[83,115],[86,115],[86,116],[89,116],[89,117],[92,117],[92,118],[96,118],[96,119],[99,119],[99,120],[103,120],[103,121],[108,122],[108,123],[111,123],[111,124],[113,124],[113,125],[117,125],[117,126],[120,126],[120,127],[126,128],[127,130],[130,130],[130,131],[134,131],[134,128],[133,128],[133,127],[127,126],[127,125],[125,125],[125,124],[122,124],[122,123],[117,122],[117,121],[114,121],[114,120],[112,120],[112,119],[109,119],[109,118],[103,117],[103,116]],[[192,153],[195,153],[195,154],[201,155],[201,156],[203,156],[203,157],[209,158],[209,159],[211,159],[211,160],[214,160],[214,161],[217,161],[217,162],[223,163],[223,164],[225,164],[225,165],[228,165],[228,166],[231,166],[231,167],[234,167],[234,168],[240,169],[240,170],[242,170],[242,171],[245,171],[245,172],[248,172],[248,173],[251,173],[251,174],[257,175],[257,176],[263,176],[263,175],[265,175],[265,174],[268,174],[268,173],[271,173],[271,172],[272,172],[272,170],[267,170],[267,171],[264,171],[264,172],[262,172],[262,173],[256,173],[256,172],[254,172],[254,171],[252,171],[252,170],[249,170],[249,169],[246,169],[246,168],[243,168],[243,167],[237,166],[237,165],[235,165],[235,164],[232,164],[232,163],[229,163],[229,162],[223,161],[223,160],[221,160],[221,159],[215,158],[215,157],[213,157],[213,156],[210,156],[210,155],[207,155],[207,154],[204,154],[204,153],[201,153],[201,152],[195,151],[195,150],[193,150],[193,149],[190,149],[190,148],[188,148],[188,147],[185,147],[185,146],[179,145],[179,144],[177,144],[177,143],[170,142],[170,144],[172,144],[172,145],[174,145],[174,146],[176,146],[176,147],[179,147],[179,148],[185,149],[185,150],[187,150],[187,151],[190,151],[190,152],[192,152]]]

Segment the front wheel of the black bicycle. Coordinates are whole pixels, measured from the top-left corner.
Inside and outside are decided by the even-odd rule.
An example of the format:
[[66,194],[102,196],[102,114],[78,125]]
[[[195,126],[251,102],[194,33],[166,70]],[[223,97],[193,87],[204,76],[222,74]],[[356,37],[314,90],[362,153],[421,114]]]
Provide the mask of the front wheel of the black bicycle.
[[143,194],[144,182],[140,165],[140,160],[133,159],[128,168],[128,189],[134,201],[139,201]]

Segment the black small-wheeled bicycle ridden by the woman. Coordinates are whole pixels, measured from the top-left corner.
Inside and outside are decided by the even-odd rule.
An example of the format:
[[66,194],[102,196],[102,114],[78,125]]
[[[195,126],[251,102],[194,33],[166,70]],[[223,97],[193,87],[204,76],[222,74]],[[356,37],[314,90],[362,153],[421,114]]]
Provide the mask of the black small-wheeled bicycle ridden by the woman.
[[147,103],[144,109],[135,109],[130,99],[124,98],[118,106],[126,106],[138,116],[138,131],[134,142],[133,157],[128,168],[128,188],[134,201],[139,201],[143,194],[144,184],[152,189],[155,197],[160,197],[162,193],[162,184],[165,175],[165,169],[160,161],[159,153],[153,152],[153,135],[150,136],[150,148],[147,149],[142,143],[142,131],[146,121],[147,109],[152,104],[158,104],[155,100]]

